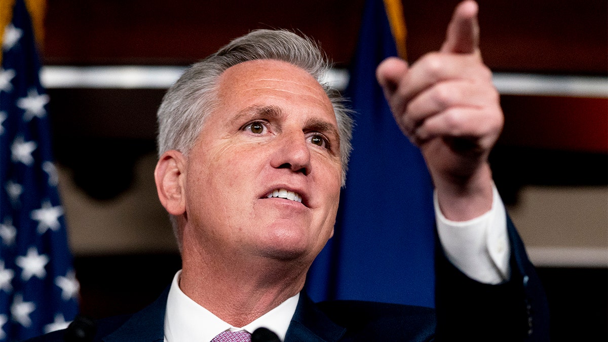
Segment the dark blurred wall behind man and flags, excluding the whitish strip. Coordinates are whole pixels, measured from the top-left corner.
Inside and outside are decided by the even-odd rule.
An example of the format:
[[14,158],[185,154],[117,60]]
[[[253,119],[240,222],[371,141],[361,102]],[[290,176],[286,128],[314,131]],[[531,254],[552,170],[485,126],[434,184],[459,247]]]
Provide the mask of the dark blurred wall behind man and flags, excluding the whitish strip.
[[[541,75],[562,90],[574,89],[504,91],[505,130],[492,169],[547,290],[553,340],[606,341],[607,2],[479,2],[482,53],[492,71],[520,79]],[[410,62],[440,47],[456,4],[404,1]],[[336,68],[347,69],[363,5],[51,0],[43,63],[61,66],[59,72],[187,66],[249,30],[283,28],[318,40]],[[104,77],[103,70],[93,77]],[[48,92],[81,310],[97,318],[148,304],[180,259],[153,180],[155,113],[165,89],[83,85],[78,77],[72,85],[51,83]],[[598,80],[604,92],[576,90]]]

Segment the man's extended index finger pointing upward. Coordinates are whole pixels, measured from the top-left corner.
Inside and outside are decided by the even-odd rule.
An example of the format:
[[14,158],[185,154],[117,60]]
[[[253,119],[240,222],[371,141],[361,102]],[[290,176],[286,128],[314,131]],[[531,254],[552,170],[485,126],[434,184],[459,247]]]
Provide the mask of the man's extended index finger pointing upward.
[[460,2],[454,10],[447,26],[446,40],[441,52],[472,54],[479,47],[479,24],[477,23],[477,2]]

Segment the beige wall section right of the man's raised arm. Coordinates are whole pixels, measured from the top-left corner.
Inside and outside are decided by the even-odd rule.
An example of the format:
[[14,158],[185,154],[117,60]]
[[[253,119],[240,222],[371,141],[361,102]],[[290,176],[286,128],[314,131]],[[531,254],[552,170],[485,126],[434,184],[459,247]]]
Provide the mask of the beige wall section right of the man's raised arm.
[[508,211],[536,265],[608,266],[608,187],[527,186]]

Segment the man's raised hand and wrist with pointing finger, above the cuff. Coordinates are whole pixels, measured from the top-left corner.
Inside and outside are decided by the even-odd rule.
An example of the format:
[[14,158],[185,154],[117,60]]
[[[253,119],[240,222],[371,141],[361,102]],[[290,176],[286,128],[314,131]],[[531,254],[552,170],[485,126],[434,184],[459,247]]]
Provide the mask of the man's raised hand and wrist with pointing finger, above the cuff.
[[478,47],[477,3],[461,2],[440,51],[411,67],[387,58],[376,75],[401,130],[421,148],[441,211],[468,220],[492,204],[488,155],[503,125],[499,94]]

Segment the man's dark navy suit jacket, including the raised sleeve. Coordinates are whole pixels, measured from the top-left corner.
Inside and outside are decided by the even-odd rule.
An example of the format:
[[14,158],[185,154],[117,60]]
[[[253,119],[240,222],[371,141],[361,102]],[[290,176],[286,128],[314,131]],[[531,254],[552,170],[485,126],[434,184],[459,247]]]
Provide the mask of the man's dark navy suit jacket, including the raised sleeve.
[[[523,243],[508,220],[511,279],[487,285],[466,277],[437,248],[437,309],[362,301],[314,303],[300,295],[285,342],[547,341],[548,307]],[[95,341],[163,341],[167,290],[134,315],[98,321]],[[63,341],[63,331],[33,341]]]

